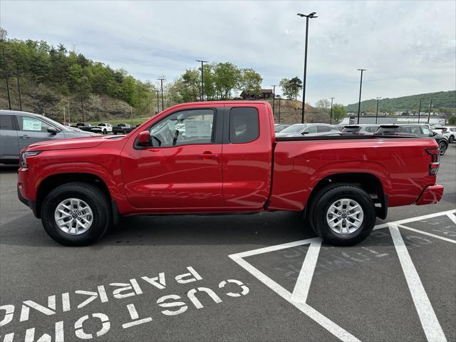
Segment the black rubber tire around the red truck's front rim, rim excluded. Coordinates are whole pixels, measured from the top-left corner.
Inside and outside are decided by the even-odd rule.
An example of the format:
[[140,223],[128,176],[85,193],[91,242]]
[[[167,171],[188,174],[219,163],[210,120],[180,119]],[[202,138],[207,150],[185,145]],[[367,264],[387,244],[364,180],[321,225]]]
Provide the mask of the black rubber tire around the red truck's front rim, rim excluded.
[[[86,232],[68,234],[63,232],[54,219],[56,207],[68,198],[81,199],[88,204],[93,212],[93,222]],[[93,244],[105,234],[112,222],[112,214],[108,198],[93,185],[85,182],[71,182],[49,192],[41,207],[41,222],[48,235],[66,246],[86,246]]]

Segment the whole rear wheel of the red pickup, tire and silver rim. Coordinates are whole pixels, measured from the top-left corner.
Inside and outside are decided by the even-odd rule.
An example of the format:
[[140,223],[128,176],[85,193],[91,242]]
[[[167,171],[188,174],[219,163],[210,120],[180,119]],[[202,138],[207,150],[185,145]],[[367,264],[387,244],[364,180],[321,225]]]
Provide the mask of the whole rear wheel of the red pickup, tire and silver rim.
[[338,185],[323,190],[312,207],[311,225],[328,244],[357,244],[371,234],[375,225],[375,205],[360,187]]

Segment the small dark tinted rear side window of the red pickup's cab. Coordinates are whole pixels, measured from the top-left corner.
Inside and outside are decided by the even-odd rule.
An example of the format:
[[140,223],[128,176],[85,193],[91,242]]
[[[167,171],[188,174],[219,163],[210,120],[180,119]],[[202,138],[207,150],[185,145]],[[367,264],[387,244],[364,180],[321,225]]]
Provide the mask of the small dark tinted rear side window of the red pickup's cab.
[[229,142],[243,144],[259,137],[258,110],[237,107],[229,111]]

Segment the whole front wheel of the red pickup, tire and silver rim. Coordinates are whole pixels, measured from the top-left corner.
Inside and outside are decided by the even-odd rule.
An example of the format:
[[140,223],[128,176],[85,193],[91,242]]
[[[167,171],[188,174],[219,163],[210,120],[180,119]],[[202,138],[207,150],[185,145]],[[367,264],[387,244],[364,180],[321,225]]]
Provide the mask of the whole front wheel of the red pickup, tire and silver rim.
[[111,222],[110,206],[98,187],[71,182],[49,192],[41,207],[44,230],[67,246],[92,244],[105,234]]

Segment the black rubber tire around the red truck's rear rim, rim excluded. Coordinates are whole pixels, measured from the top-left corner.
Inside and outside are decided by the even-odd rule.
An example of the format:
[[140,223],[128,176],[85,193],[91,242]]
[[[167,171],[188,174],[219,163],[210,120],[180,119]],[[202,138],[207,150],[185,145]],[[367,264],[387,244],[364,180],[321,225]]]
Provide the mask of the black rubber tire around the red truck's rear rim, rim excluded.
[[[363,222],[352,233],[339,234],[329,227],[326,215],[329,207],[338,199],[353,199],[363,209]],[[311,215],[309,219],[314,232],[324,242],[335,246],[351,246],[363,241],[371,234],[376,220],[375,204],[368,193],[361,187],[343,183],[321,190],[314,198],[309,214]]]

